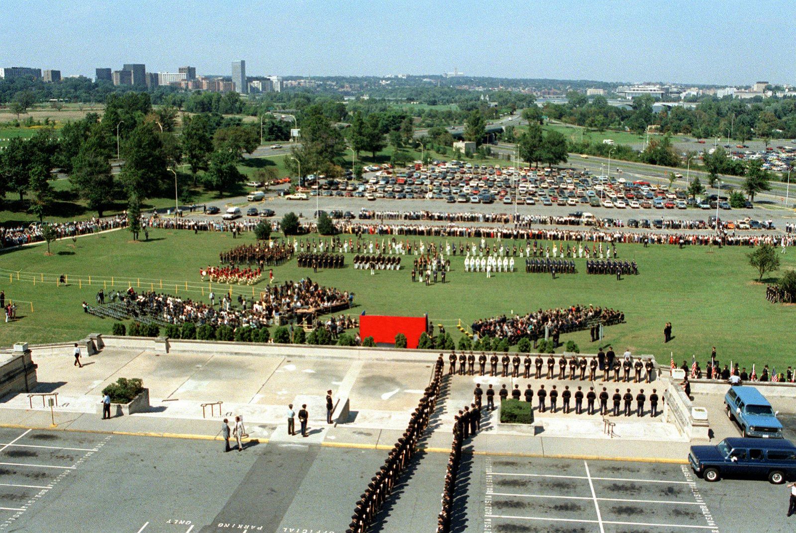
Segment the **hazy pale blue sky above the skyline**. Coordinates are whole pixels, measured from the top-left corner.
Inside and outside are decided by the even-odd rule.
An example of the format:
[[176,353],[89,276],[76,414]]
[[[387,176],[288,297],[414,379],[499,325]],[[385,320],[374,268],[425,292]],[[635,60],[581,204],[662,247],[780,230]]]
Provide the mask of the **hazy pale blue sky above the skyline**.
[[793,0],[3,0],[0,66],[796,83]]

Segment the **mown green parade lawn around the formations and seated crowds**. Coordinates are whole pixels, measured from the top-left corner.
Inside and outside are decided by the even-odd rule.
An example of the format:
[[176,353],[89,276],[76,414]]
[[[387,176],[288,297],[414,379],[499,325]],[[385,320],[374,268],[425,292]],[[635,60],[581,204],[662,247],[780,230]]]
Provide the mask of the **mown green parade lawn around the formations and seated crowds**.
[[[0,326],[0,345],[14,342],[57,342],[82,338],[89,332],[109,333],[111,321],[85,315],[80,302],[94,302],[99,288],[97,276],[153,278],[142,280],[149,288],[162,278],[163,292],[202,297],[198,287],[205,287],[197,274],[202,266],[217,265],[220,250],[253,241],[251,234],[232,239],[231,234],[198,234],[154,230],[149,242],[131,242],[127,231],[58,241],[51,245],[53,256],[45,256],[45,245],[37,245],[2,254],[3,269],[21,272],[64,273],[68,287],[55,284],[10,280],[6,270],[0,276],[0,289],[6,299],[20,300],[17,322]],[[437,239],[439,241],[439,239]],[[419,239],[417,239],[419,241]],[[451,239],[456,241],[458,239]],[[444,243],[443,243],[444,244]],[[624,311],[626,323],[605,328],[606,343],[617,350],[630,348],[634,353],[653,353],[659,361],[690,362],[695,353],[701,361],[716,346],[721,361],[740,361],[775,365],[784,370],[791,365],[790,350],[796,342],[794,313],[796,307],[768,303],[765,285],[755,282],[755,272],[747,265],[738,247],[723,249],[703,246],[677,249],[669,246],[643,248],[619,245],[618,257],[635,259],[639,276],[617,281],[615,276],[587,276],[583,260],[576,260],[579,273],[552,280],[544,274],[525,272],[498,273],[491,279],[479,273],[464,272],[462,258],[451,257],[448,283],[426,287],[410,280],[411,257],[404,257],[400,271],[369,272],[351,266],[326,270],[313,275],[308,268],[298,268],[295,260],[275,268],[275,280],[298,280],[310,276],[322,285],[334,286],[356,294],[352,313],[369,315],[423,315],[428,313],[436,325],[443,323],[458,339],[455,324],[461,319],[469,325],[474,319],[494,315],[525,314],[528,311],[562,307],[575,303],[613,307]],[[347,257],[350,263],[353,256]],[[521,269],[521,261],[517,265]],[[796,267],[796,258],[783,258],[783,268]],[[6,276],[6,277],[4,277]],[[88,276],[92,285],[87,286]],[[12,278],[14,276],[11,276]],[[197,289],[185,293],[185,282]],[[132,282],[136,285],[136,282]],[[80,287],[82,285],[82,287]],[[119,287],[119,285],[122,285]],[[175,288],[174,285],[178,285]],[[182,287],[183,289],[180,289]],[[110,287],[109,287],[110,288]],[[127,288],[115,280],[115,288]],[[214,289],[220,294],[219,288]],[[223,290],[223,289],[222,289]],[[233,288],[248,293],[249,287]],[[259,289],[254,288],[257,293]],[[207,294],[205,288],[205,295]],[[33,302],[33,312],[30,304]],[[663,343],[663,326],[673,323],[673,341]],[[584,353],[595,352],[587,331],[562,337],[572,339]]]

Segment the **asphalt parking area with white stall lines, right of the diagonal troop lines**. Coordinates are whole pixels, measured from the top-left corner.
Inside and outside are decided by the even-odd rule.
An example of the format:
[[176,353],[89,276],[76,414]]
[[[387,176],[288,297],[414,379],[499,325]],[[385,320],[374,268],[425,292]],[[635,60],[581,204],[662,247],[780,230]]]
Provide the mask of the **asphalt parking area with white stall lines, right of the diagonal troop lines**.
[[[470,456],[462,531],[630,533],[791,531],[789,489],[766,481],[709,484],[689,465]],[[469,464],[467,464],[469,462]]]

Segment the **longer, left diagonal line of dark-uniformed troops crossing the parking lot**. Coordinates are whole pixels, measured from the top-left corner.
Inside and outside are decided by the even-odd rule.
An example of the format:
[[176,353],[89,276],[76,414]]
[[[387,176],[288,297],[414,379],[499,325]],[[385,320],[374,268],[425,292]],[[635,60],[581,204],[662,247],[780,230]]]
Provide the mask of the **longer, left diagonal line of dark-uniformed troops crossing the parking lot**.
[[434,412],[437,396],[439,395],[439,384],[443,378],[444,361],[440,353],[434,369],[434,378],[428,385],[423,398],[420,399],[415,411],[409,419],[408,427],[404,435],[398,439],[395,446],[390,450],[384,465],[377,470],[376,475],[370,478],[368,488],[360,496],[354,508],[351,523],[345,530],[346,533],[365,533],[371,521],[377,516],[381,504],[388,498],[400,478],[401,471],[412,460],[415,453],[415,446],[419,438],[423,435],[428,425],[428,419]]

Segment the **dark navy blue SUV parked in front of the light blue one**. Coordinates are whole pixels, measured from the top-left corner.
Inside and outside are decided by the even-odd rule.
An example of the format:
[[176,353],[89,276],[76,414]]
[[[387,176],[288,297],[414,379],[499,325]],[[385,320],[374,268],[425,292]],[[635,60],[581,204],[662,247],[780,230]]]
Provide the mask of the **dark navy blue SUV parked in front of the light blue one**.
[[740,477],[778,485],[796,479],[796,446],[784,438],[728,437],[716,446],[691,446],[689,463],[704,481]]

